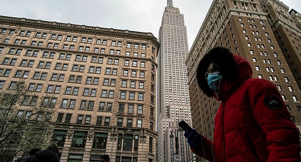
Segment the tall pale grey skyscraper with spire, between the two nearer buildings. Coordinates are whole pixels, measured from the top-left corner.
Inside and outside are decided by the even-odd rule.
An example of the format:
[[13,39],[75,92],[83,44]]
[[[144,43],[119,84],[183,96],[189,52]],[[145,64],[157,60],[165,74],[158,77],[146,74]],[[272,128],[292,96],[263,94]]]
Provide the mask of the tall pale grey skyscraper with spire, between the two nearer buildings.
[[157,131],[158,160],[173,161],[176,140],[170,138],[172,131],[179,137],[179,155],[182,161],[192,157],[184,133],[178,131],[181,120],[191,124],[185,59],[188,54],[187,31],[184,15],[179,8],[167,0],[159,30],[161,48],[158,55],[157,71]]

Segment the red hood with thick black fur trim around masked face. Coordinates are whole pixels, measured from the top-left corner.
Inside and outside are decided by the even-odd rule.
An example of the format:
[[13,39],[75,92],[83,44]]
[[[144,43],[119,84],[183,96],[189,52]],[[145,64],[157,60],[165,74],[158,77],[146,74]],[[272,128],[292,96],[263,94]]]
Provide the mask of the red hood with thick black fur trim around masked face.
[[244,80],[252,77],[252,68],[250,63],[237,54],[233,54],[228,48],[214,47],[204,55],[197,69],[198,85],[207,96],[213,96],[215,91],[208,85],[205,78],[205,72],[209,64],[214,62],[217,64],[219,72],[222,75],[220,83],[220,91],[226,99],[233,90]]

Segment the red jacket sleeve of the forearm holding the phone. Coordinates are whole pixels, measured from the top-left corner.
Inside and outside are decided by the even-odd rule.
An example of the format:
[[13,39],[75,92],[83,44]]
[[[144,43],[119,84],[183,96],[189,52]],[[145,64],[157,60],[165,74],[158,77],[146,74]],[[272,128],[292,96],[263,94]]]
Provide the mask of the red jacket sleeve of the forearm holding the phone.
[[201,149],[194,150],[191,148],[191,151],[209,161],[214,161],[212,156],[212,141],[203,136],[203,141],[201,144]]

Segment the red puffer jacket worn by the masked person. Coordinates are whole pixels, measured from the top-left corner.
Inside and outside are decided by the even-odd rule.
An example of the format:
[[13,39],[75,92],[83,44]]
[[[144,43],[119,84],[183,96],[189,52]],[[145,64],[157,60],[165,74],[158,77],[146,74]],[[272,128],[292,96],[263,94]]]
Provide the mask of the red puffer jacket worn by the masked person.
[[236,54],[233,57],[238,78],[221,79],[214,94],[222,100],[214,120],[214,141],[204,137],[204,150],[192,151],[215,162],[301,161],[297,128],[275,85],[251,78],[249,62]]

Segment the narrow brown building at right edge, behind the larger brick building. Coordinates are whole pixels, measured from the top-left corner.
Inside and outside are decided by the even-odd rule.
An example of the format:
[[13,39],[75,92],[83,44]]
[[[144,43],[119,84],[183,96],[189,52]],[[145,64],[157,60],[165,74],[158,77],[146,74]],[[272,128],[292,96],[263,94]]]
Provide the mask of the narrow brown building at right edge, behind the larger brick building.
[[288,11],[288,6],[278,0],[260,0],[263,12],[267,13],[277,42],[284,54],[286,62],[301,89],[301,30],[300,16],[295,10]]

